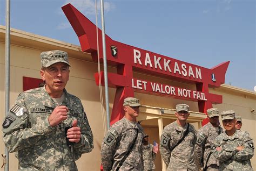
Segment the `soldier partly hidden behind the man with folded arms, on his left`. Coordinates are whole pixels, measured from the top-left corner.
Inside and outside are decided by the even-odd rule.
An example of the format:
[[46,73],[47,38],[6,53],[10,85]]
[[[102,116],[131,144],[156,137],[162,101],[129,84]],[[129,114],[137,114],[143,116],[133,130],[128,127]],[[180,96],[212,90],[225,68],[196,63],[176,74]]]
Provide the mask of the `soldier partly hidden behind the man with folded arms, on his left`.
[[211,108],[207,110],[209,123],[201,127],[197,132],[197,144],[195,147],[196,164],[204,170],[219,170],[219,161],[212,155],[212,141],[223,133],[219,125],[219,110]]

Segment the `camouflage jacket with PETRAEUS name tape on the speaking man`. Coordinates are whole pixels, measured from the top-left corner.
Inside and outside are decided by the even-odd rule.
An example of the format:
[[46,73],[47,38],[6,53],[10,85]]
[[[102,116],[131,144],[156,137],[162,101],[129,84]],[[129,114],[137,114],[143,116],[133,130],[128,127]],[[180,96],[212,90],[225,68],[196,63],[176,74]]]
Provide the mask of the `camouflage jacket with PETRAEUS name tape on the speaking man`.
[[64,95],[68,119],[54,127],[48,117],[57,104],[44,87],[22,92],[11,107],[3,123],[3,140],[9,152],[17,152],[19,170],[77,170],[64,132],[74,119],[82,137],[73,145],[73,157],[77,160],[82,153],[92,151],[93,136],[82,103],[66,90]]

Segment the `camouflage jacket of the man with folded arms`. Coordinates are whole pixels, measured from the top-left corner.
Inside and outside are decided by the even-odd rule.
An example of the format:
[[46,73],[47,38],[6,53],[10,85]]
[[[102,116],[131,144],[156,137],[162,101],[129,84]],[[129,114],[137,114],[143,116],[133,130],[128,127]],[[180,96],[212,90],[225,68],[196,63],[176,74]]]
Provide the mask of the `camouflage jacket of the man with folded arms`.
[[[235,148],[244,146],[241,151]],[[216,147],[221,147],[220,151]],[[226,132],[220,134],[212,144],[212,153],[219,160],[219,170],[253,170],[250,159],[253,156],[254,143],[246,131],[236,130],[233,136]]]

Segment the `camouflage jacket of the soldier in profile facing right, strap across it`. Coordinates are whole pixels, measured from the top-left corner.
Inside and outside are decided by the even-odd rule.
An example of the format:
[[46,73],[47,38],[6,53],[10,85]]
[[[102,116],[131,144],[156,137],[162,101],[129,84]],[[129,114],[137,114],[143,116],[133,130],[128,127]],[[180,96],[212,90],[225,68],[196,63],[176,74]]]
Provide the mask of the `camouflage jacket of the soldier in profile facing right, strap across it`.
[[102,143],[102,165],[104,170],[116,170],[124,156],[129,151],[133,140],[138,137],[120,170],[143,170],[142,139],[144,136],[142,126],[135,123],[132,126],[126,118],[114,123]]

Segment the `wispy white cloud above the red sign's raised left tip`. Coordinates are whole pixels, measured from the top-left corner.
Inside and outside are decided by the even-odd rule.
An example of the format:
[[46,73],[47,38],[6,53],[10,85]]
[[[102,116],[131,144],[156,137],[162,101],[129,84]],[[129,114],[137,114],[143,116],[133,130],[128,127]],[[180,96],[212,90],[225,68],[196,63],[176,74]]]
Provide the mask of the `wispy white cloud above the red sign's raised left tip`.
[[[95,15],[95,1],[93,0],[66,0],[65,4],[71,3],[84,15]],[[110,2],[104,2],[104,12],[115,9],[116,6]],[[100,12],[100,1],[97,1],[97,11]]]

